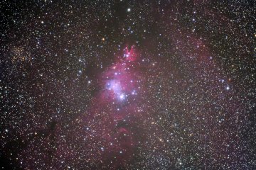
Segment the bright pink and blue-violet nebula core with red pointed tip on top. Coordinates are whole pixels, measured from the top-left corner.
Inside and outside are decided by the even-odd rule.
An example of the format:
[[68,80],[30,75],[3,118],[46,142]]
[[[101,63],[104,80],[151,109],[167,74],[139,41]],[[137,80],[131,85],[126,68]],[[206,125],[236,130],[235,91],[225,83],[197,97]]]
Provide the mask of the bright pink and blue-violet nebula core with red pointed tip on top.
[[103,96],[109,96],[113,101],[129,101],[129,98],[134,98],[139,91],[139,73],[134,67],[138,55],[134,50],[134,46],[130,50],[124,48],[124,55],[121,59],[114,63],[103,74],[104,89]]

